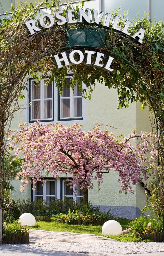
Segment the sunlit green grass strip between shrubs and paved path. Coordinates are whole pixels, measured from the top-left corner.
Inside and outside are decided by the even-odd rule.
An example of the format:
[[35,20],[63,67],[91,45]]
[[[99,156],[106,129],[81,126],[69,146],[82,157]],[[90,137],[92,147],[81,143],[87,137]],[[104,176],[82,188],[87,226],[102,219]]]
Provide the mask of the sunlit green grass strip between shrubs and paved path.
[[[121,226],[122,230],[125,230],[129,227],[130,220],[129,219],[115,219],[118,221]],[[46,221],[37,221],[35,227],[29,227],[30,229],[39,229],[39,230],[46,230],[46,231],[61,231],[61,232],[75,232],[75,233],[88,233],[102,236],[102,226],[97,225],[70,225],[65,223],[58,223],[58,222],[46,222]],[[108,236],[109,238],[113,238],[118,241],[123,242],[137,242],[140,241],[140,238],[135,238],[131,233],[127,233],[120,236]]]

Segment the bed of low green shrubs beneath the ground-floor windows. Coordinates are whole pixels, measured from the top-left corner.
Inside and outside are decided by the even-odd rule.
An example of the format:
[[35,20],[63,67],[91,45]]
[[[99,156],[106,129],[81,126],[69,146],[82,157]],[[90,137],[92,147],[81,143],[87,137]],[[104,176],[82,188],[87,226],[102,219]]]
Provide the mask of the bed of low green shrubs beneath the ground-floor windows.
[[53,216],[53,220],[57,222],[72,223],[73,221],[80,221],[84,224],[94,223],[95,220],[110,220],[113,215],[108,212],[101,213],[98,206],[92,206],[91,203],[84,205],[78,204],[75,201],[56,199],[50,200],[47,203],[43,199],[38,199],[36,202],[31,202],[30,199],[17,201],[16,207],[20,210],[20,215],[29,212],[34,216]]

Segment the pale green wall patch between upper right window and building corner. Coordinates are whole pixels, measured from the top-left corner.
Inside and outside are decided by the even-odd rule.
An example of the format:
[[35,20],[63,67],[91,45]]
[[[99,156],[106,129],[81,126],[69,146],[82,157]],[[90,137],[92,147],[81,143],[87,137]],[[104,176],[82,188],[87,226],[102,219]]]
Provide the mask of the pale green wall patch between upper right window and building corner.
[[[104,84],[96,83],[93,91],[92,100],[86,101],[86,123],[84,129],[89,130],[98,122],[99,124],[111,125],[109,131],[118,134],[128,134],[136,128],[136,104],[131,104],[128,109],[117,110],[118,96],[117,91],[105,87]],[[103,127],[105,129],[106,127]]]

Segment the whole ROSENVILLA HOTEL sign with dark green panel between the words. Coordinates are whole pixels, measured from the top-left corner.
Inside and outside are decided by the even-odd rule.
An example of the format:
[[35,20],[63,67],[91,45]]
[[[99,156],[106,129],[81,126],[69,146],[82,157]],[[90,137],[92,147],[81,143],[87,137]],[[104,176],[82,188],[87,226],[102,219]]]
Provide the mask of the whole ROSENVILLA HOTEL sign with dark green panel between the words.
[[[48,20],[48,24],[45,23],[45,20]],[[76,15],[75,18],[75,9],[68,9],[66,12],[63,10],[57,10],[54,15],[51,15],[50,13],[44,13],[39,17],[39,22],[36,24],[35,20],[29,20],[24,23],[24,26],[30,33],[30,35],[34,35],[37,32],[41,31],[43,28],[44,29],[50,29],[56,24],[57,27],[60,28],[60,26],[68,31],[69,34],[69,40],[71,38],[71,42],[69,42],[69,45],[71,46],[70,49],[73,46],[89,46],[90,48],[92,47],[92,50],[85,50],[85,52],[82,52],[81,50],[72,50],[71,52],[69,51],[69,56],[66,54],[66,52],[62,52],[60,54],[54,55],[53,59],[55,61],[55,64],[57,68],[62,68],[62,64],[64,66],[68,66],[70,64],[73,65],[78,65],[82,63],[82,61],[85,60],[86,65],[91,65],[92,57],[95,55],[95,60],[94,60],[94,66],[99,67],[99,68],[104,68],[106,71],[112,72],[112,68],[110,68],[113,57],[112,56],[106,56],[102,52],[95,52],[95,48],[102,49],[103,48],[103,43],[105,42],[105,34],[106,29],[111,27],[111,20],[112,21],[112,29],[115,31],[121,31],[123,34],[128,35],[134,39],[136,39],[137,43],[143,44],[143,38],[145,31],[144,29],[140,28],[136,33],[130,34],[128,32],[128,29],[130,27],[131,21],[126,20],[124,28],[118,27],[120,17],[119,16],[112,16],[112,13],[105,13],[105,12],[98,12],[96,9],[79,9],[78,10],[78,15]],[[101,28],[99,24],[102,24],[103,22],[103,27],[101,25]],[[85,24],[90,24],[91,27],[84,27],[81,26],[83,23]],[[80,25],[77,27],[71,27],[71,25]],[[94,26],[93,26],[94,25]],[[69,27],[70,26],[70,27]],[[94,28],[94,29],[93,29]],[[68,30],[69,29],[69,30]],[[87,31],[85,33],[85,30]],[[98,31],[98,32],[97,32]],[[90,33],[92,36],[92,41],[87,42],[87,35]],[[98,37],[98,35],[100,36]],[[84,43],[86,43],[84,45]],[[69,46],[68,46],[69,47]],[[74,56],[78,56],[78,60],[74,58]],[[102,61],[106,61],[105,64],[102,64]]]

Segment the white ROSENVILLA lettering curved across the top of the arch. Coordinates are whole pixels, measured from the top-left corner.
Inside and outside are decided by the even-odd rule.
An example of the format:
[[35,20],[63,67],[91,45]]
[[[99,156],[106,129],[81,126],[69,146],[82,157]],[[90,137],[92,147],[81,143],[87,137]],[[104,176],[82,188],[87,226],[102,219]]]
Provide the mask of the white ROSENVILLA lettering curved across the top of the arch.
[[[125,21],[125,25],[124,28],[118,27],[119,26],[119,22],[120,22],[120,17],[115,15],[113,17],[113,24],[110,24],[111,18],[113,16],[112,13],[106,13],[106,17],[105,20],[103,21],[103,16],[104,16],[104,12],[100,12],[98,13],[97,10],[90,10],[90,9],[78,9],[78,19],[75,19],[75,9],[67,9],[64,11],[57,11],[54,14],[54,17],[51,14],[45,13],[43,14],[40,19],[39,19],[39,24],[41,27],[43,28],[51,28],[53,27],[53,24],[56,22],[56,24],[58,26],[63,26],[66,23],[68,24],[77,24],[77,23],[91,23],[94,22],[95,24],[99,25],[101,23],[102,26],[104,26],[105,28],[113,28],[117,31],[121,31],[122,33],[124,33],[125,35],[130,36],[130,33],[128,32],[129,26],[131,24],[131,21],[126,20]],[[65,13],[65,16],[64,16]],[[49,24],[44,22],[44,18],[48,18],[49,19]],[[67,18],[67,19],[66,19]],[[56,20],[56,21],[55,21]],[[121,21],[122,22],[122,21]],[[36,26],[36,23],[34,20],[30,20],[24,23],[24,25],[26,26],[27,30],[30,32],[31,35],[34,35],[35,33],[39,32],[41,29],[38,28]],[[93,23],[92,23],[93,26]],[[100,26],[101,30],[103,30],[102,26]],[[67,26],[68,27],[68,26]],[[106,32],[106,29],[104,28],[104,32]],[[77,28],[75,28],[77,29]],[[95,28],[96,29],[96,28]],[[108,32],[110,32],[108,30]],[[144,29],[139,29],[138,32],[136,32],[134,35],[132,35],[132,38],[136,38],[139,43],[143,43],[143,38],[145,35],[145,30]],[[139,39],[138,39],[139,38]]]

